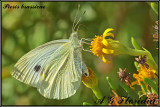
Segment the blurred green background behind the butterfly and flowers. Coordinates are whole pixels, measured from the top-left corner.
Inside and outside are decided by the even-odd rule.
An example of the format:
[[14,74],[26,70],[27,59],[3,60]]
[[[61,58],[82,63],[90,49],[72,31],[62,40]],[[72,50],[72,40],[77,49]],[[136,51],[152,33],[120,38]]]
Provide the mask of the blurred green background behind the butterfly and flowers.
[[[79,38],[94,38],[107,28],[114,28],[115,39],[131,48],[131,37],[141,47],[149,50],[158,63],[158,42],[153,42],[155,21],[158,16],[149,2],[2,2],[10,5],[44,5],[45,9],[4,9],[2,8],[2,105],[82,105],[97,100],[91,89],[83,84],[76,94],[65,100],[46,99],[36,88],[30,87],[11,77],[13,65],[25,53],[35,47],[56,39],[69,38],[78,4],[81,5],[78,18],[82,17]],[[89,48],[85,45],[85,49]],[[113,56],[111,64],[103,63],[92,53],[83,52],[86,65],[94,70],[99,79],[99,88],[104,96],[111,96],[106,81],[110,76],[117,83],[120,96],[125,91],[118,84],[118,68],[127,68],[132,78],[137,73],[134,57]],[[134,79],[132,78],[132,81]],[[137,87],[140,89],[140,87]]]

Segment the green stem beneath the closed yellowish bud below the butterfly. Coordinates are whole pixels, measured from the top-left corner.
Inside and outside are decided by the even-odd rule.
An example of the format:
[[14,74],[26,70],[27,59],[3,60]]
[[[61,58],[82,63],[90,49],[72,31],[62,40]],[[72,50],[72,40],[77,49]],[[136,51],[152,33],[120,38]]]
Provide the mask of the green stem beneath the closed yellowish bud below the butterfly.
[[[100,89],[98,88],[98,86],[95,86],[94,88],[91,88],[93,93],[95,94],[95,96],[98,98],[98,100],[103,100],[103,95],[100,91]],[[108,105],[108,103],[106,102],[106,100],[104,99],[102,102],[102,105]]]

